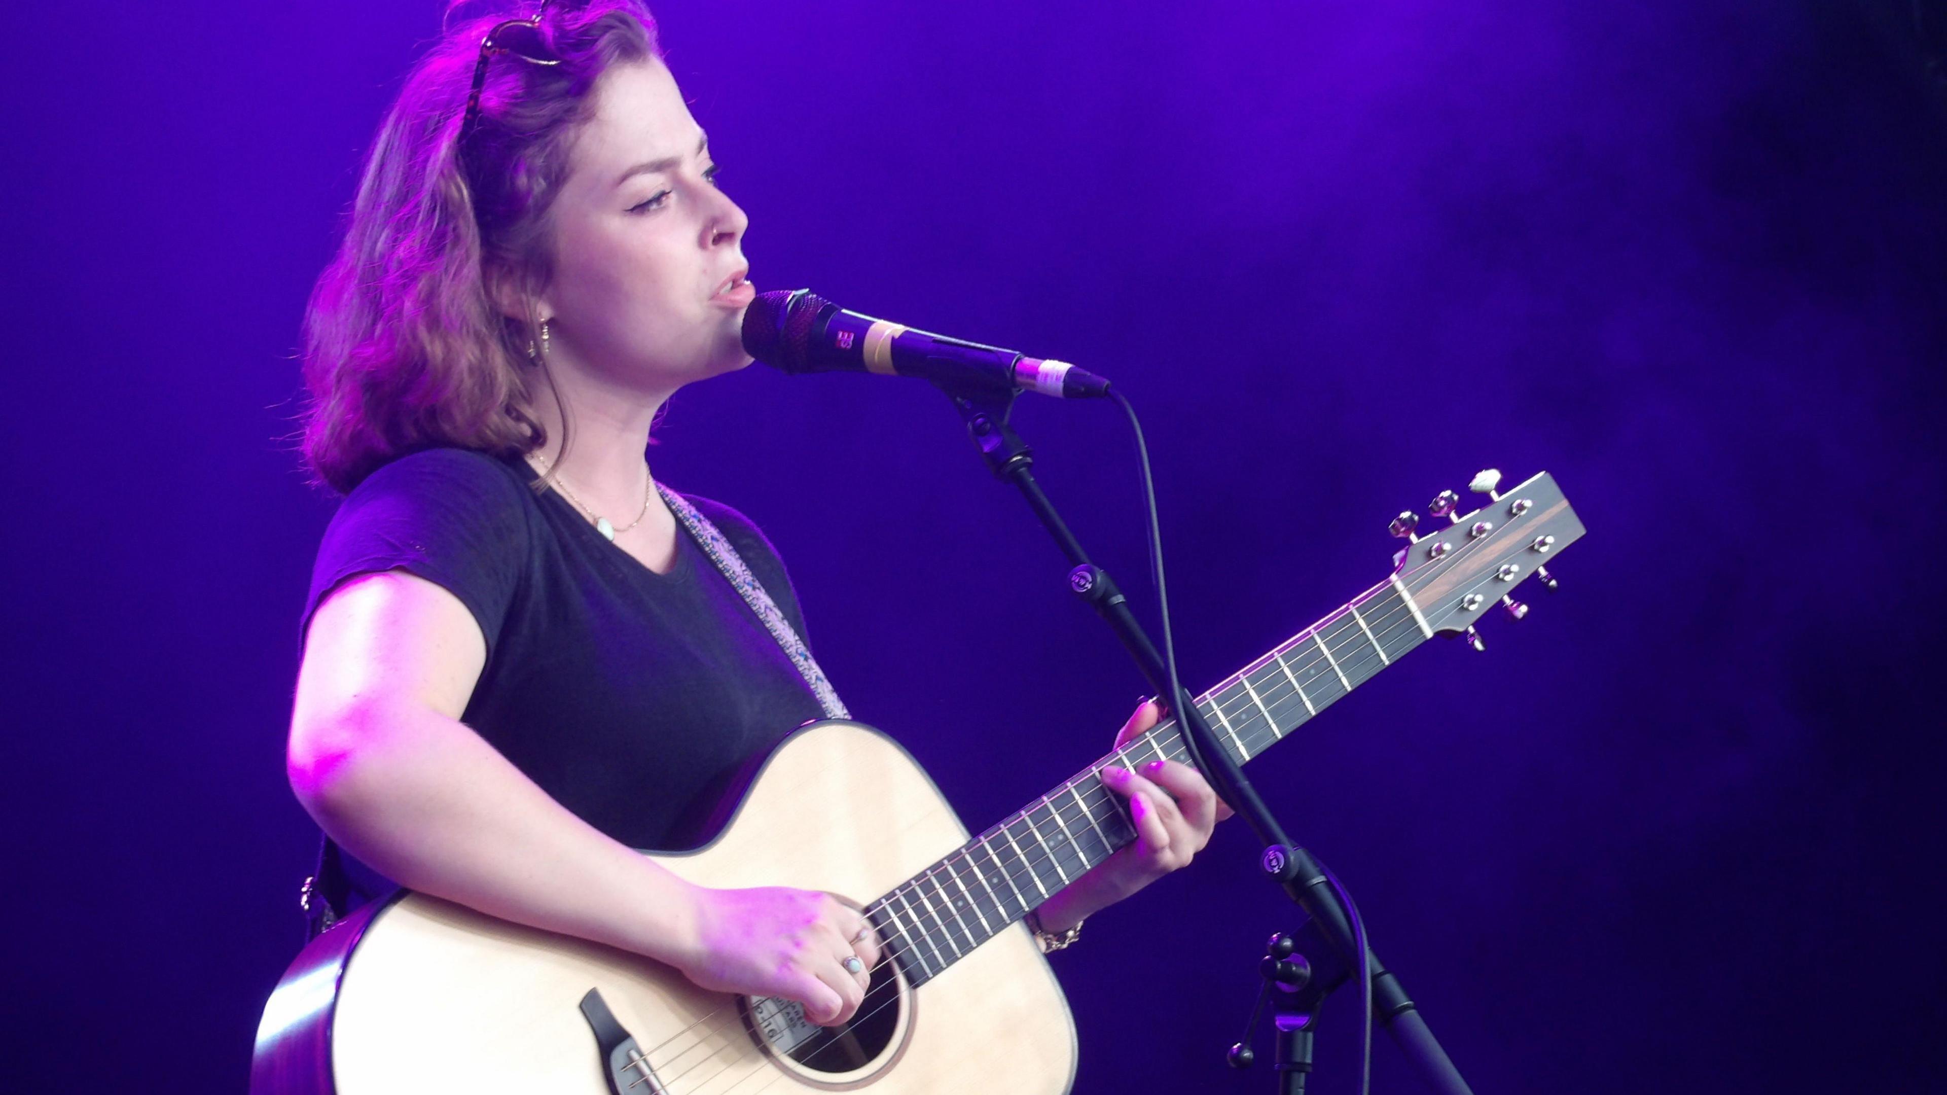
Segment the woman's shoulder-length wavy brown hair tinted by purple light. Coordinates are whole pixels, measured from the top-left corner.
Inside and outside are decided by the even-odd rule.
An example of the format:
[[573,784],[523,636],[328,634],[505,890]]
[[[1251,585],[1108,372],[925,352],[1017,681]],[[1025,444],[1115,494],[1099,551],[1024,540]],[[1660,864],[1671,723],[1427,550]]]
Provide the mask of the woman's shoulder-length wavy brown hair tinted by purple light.
[[545,444],[530,357],[533,300],[553,275],[547,210],[596,80],[656,58],[641,0],[553,2],[539,33],[561,64],[496,55],[459,148],[481,39],[524,10],[461,16],[405,78],[366,156],[337,257],[304,316],[304,460],[333,491],[434,446],[522,454]]

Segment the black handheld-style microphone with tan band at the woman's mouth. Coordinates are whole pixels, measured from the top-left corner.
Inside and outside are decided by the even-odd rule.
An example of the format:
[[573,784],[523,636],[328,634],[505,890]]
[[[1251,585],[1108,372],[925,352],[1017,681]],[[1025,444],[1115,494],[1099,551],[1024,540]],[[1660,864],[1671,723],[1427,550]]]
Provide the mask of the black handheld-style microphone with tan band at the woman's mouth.
[[1108,380],[1065,360],[929,335],[847,312],[808,288],[759,292],[744,310],[744,353],[790,374],[876,372],[1057,399],[1108,396]]

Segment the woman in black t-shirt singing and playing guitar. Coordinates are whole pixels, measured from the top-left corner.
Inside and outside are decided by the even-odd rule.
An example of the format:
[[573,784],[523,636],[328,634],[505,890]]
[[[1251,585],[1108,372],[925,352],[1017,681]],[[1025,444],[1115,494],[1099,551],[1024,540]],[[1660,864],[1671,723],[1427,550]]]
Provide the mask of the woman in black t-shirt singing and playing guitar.
[[[306,320],[306,456],[347,499],[290,781],[403,887],[835,1025],[880,957],[859,912],[633,851],[707,840],[750,766],[831,709],[787,653],[802,620],[763,536],[691,514],[643,458],[678,388],[750,362],[748,222],[715,173],[633,0],[475,19],[415,68]],[[713,565],[711,526],[789,627]],[[1044,947],[1209,838],[1192,768],[1106,781],[1141,838],[1040,906]]]

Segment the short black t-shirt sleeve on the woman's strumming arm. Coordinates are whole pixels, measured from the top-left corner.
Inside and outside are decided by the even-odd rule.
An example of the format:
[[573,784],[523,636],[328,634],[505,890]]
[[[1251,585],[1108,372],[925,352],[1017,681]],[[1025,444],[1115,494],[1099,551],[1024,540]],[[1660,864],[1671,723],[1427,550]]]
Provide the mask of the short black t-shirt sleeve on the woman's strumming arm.
[[533,503],[524,491],[506,464],[461,448],[386,464],[345,497],[325,528],[300,639],[331,590],[358,575],[405,571],[467,606],[491,659],[532,546]]

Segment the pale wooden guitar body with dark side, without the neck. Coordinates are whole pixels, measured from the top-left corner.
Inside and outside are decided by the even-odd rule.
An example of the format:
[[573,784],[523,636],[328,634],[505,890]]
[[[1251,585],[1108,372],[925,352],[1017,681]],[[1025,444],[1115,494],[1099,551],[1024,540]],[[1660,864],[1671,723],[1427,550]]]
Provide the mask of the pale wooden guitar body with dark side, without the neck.
[[[705,887],[785,885],[866,904],[968,842],[896,742],[814,723],[759,770],[707,848],[650,855]],[[253,1095],[419,1091],[604,1095],[611,1062],[582,1000],[598,990],[646,1058],[633,1093],[1067,1091],[1075,1025],[1053,972],[1014,924],[919,990],[882,964],[855,1033],[794,1060],[767,1005],[695,988],[670,966],[405,892],[298,955],[265,1007]],[[868,1011],[876,1011],[866,1019]],[[761,1029],[769,1025],[773,1037]],[[831,1042],[818,1035],[812,1046]]]

